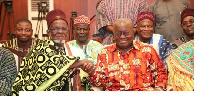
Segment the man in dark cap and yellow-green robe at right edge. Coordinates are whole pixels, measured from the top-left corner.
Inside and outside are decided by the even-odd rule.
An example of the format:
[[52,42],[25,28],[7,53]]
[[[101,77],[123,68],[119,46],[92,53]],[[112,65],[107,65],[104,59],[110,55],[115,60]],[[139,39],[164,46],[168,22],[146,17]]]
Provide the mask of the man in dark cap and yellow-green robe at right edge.
[[181,25],[186,36],[174,42],[168,57],[168,90],[194,91],[194,9],[183,10]]

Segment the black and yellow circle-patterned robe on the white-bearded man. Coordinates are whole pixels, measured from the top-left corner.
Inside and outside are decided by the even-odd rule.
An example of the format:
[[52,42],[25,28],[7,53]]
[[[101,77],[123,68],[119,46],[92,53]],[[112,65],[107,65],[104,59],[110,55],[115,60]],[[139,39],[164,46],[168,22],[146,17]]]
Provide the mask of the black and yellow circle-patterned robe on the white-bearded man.
[[79,57],[66,56],[65,50],[51,40],[38,44],[23,58],[18,76],[13,85],[13,96],[19,91],[59,91],[68,80],[68,69]]

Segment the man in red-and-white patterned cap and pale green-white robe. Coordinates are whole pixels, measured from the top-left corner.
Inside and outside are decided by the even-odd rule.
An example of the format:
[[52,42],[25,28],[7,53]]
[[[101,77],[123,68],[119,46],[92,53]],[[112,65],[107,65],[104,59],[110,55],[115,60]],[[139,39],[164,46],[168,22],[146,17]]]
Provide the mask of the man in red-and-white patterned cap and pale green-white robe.
[[[85,58],[92,60],[96,65],[96,60],[98,53],[101,51],[103,45],[97,41],[88,39],[89,31],[90,31],[90,20],[88,17],[81,15],[79,17],[74,18],[74,28],[75,39],[67,42],[68,44],[81,49]],[[84,73],[82,70],[80,71],[82,85],[86,85],[84,83],[88,83],[88,79],[86,78],[87,73]],[[84,76],[85,75],[85,76]],[[84,77],[83,77],[84,76]],[[88,86],[88,85],[86,85]],[[86,88],[89,90],[90,86]],[[83,88],[82,88],[83,89]]]

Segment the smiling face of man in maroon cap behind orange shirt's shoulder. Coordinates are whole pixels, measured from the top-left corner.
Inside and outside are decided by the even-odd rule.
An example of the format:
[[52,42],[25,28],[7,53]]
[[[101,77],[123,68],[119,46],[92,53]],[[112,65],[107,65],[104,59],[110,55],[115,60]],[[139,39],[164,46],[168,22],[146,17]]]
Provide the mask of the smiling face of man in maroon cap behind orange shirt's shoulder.
[[[140,41],[149,41],[153,36],[154,24],[149,19],[144,19],[137,24],[137,33]],[[146,43],[146,42],[144,42]]]

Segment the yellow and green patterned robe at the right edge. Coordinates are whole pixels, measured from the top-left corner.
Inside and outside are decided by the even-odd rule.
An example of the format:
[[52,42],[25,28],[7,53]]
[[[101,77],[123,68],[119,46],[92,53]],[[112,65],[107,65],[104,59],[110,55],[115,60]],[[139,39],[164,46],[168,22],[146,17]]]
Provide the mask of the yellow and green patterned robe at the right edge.
[[180,45],[167,60],[168,84],[174,91],[194,90],[194,40]]

